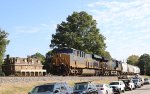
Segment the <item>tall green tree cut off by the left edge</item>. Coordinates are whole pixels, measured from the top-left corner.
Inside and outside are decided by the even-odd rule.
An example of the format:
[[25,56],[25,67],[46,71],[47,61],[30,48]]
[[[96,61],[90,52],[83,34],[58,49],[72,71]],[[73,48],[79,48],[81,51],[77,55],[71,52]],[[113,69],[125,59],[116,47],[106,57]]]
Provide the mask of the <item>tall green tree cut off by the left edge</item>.
[[0,29],[0,65],[3,63],[3,56],[6,51],[6,46],[9,43],[7,37],[8,37],[8,33]]

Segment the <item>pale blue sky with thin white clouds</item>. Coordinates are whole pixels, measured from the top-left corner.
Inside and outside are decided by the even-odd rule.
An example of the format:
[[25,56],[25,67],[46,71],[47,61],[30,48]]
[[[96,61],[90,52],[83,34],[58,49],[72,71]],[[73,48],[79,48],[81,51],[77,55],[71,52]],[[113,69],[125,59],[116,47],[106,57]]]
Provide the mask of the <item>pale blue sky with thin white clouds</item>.
[[10,40],[5,55],[45,55],[57,24],[74,11],[93,16],[113,58],[149,54],[150,0],[0,0],[0,28]]

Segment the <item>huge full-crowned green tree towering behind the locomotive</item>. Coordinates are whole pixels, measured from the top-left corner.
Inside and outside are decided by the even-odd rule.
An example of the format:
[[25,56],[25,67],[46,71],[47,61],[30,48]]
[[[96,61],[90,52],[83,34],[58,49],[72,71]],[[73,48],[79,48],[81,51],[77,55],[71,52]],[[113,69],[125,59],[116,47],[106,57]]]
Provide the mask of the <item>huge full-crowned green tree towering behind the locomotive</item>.
[[100,33],[96,25],[96,20],[86,12],[73,12],[71,16],[67,17],[66,21],[57,25],[56,34],[52,35],[50,47],[68,47],[86,53],[108,55],[109,53],[105,51],[104,40],[106,38]]

